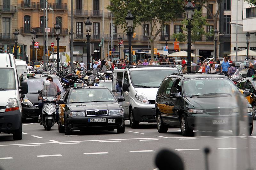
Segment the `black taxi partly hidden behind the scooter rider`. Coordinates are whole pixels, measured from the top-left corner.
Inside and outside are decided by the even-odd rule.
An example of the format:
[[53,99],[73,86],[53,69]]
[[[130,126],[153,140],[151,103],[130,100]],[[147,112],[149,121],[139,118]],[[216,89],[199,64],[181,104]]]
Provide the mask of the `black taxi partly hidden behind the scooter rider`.
[[65,90],[60,82],[58,76],[51,74],[49,71],[30,71],[24,72],[20,76],[20,82],[25,81],[28,83],[28,93],[25,95],[26,97],[23,98],[21,101],[22,106],[22,120],[26,120],[26,118],[34,118],[37,120],[39,115],[38,104],[41,103],[38,100],[38,90],[43,89],[43,81],[46,80],[48,76],[53,78],[53,82],[57,84],[60,89],[61,97],[64,95]]

